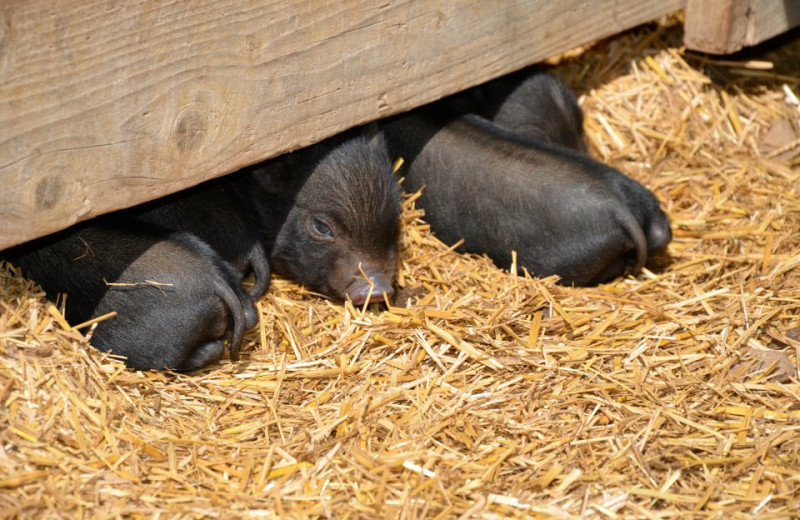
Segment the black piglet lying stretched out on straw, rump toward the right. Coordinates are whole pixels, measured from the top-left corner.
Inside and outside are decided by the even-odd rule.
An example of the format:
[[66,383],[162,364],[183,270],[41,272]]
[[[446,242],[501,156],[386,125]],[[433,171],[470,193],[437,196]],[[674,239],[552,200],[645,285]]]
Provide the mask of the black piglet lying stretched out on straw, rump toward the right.
[[647,259],[636,213],[652,208],[628,207],[627,178],[611,167],[440,107],[390,120],[384,132],[406,160],[404,187],[424,187],[426,220],[445,242],[463,238],[461,251],[507,268],[515,250],[520,268],[576,285],[637,272]]

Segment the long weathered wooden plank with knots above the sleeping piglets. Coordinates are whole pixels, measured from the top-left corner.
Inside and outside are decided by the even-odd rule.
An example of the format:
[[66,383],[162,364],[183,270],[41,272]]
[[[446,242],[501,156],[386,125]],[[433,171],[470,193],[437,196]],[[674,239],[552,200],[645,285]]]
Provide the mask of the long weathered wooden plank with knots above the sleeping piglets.
[[4,0],[0,249],[684,4]]

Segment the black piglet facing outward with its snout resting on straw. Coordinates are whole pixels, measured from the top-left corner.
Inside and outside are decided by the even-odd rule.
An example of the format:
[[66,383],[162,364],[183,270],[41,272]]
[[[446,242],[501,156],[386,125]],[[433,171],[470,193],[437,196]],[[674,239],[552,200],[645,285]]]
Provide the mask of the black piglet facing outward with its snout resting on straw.
[[355,304],[391,299],[400,194],[377,128],[267,161],[236,183],[274,272]]

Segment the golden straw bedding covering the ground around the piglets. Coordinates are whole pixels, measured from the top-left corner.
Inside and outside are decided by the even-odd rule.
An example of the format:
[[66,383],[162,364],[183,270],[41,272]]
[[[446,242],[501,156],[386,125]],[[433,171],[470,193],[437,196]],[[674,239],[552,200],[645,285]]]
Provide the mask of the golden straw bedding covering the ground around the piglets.
[[92,350],[0,270],[0,516],[797,514],[800,34],[734,63],[681,36],[652,24],[552,68],[592,153],[672,218],[635,278],[512,277],[409,200],[397,307],[277,280],[241,362],[175,375]]

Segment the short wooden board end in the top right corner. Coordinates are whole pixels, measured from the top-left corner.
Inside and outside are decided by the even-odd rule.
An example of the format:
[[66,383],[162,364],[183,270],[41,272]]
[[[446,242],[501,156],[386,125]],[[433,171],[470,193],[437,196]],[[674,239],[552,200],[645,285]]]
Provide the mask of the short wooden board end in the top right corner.
[[730,54],[800,25],[800,0],[688,0],[684,42]]

